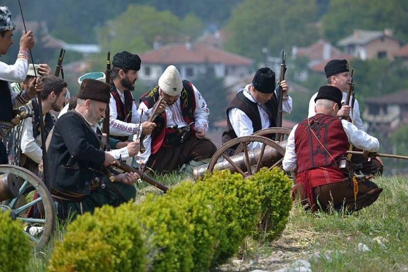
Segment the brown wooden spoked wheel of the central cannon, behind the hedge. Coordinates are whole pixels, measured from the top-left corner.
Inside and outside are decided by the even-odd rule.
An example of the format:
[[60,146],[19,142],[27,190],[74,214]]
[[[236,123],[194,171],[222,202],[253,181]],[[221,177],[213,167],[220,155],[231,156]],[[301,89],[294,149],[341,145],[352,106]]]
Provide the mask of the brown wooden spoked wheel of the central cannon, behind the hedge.
[[[250,153],[253,153],[249,151],[248,149],[248,144],[251,142],[261,142],[262,147],[260,149],[260,153],[257,159],[254,159],[253,156],[250,156]],[[240,167],[242,165],[238,165],[236,161],[234,161],[237,157],[238,154],[234,154],[233,156],[230,156],[227,154],[227,150],[230,149],[231,147],[239,144],[241,146],[241,153],[243,153],[242,159],[243,159],[243,166],[245,166],[246,170],[243,170]],[[243,136],[239,137],[236,139],[232,139],[226,143],[224,143],[213,155],[211,158],[207,170],[212,172],[215,168],[215,166],[218,164],[219,160],[226,160],[231,166],[230,170],[232,172],[239,172],[244,178],[253,175],[254,173],[258,172],[259,169],[263,166],[265,166],[265,162],[263,162],[264,155],[265,155],[265,149],[266,146],[272,147],[272,149],[276,150],[279,154],[282,156],[285,155],[285,149],[276,143],[275,141],[263,137],[263,136],[257,136],[257,135],[250,135],[250,136]],[[274,166],[277,166],[282,163],[282,159],[277,160],[277,162],[273,163],[269,168],[271,169]]]

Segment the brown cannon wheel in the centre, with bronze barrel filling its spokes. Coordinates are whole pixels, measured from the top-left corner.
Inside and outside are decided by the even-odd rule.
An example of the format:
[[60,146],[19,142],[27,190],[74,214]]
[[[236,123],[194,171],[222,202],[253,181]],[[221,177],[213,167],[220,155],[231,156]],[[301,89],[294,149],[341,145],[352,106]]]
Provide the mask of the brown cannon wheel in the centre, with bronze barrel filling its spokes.
[[[260,142],[261,148],[249,150],[248,145]],[[236,145],[241,146],[241,153],[228,155],[227,150]],[[272,168],[282,163],[285,149],[278,143],[263,136],[243,136],[224,143],[211,158],[207,170],[230,169],[239,172],[244,178],[252,176],[261,167]]]

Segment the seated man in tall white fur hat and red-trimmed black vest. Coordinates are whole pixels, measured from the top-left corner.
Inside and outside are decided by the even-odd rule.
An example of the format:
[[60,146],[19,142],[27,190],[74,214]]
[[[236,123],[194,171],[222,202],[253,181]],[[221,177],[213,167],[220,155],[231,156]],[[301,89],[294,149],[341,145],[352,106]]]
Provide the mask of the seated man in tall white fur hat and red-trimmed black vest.
[[149,117],[160,96],[163,102],[154,119],[157,127],[144,140],[146,151],[139,153],[138,162],[162,172],[211,158],[217,147],[205,138],[210,113],[207,103],[191,82],[181,79],[173,65],[163,72],[158,86],[141,96],[139,111]]

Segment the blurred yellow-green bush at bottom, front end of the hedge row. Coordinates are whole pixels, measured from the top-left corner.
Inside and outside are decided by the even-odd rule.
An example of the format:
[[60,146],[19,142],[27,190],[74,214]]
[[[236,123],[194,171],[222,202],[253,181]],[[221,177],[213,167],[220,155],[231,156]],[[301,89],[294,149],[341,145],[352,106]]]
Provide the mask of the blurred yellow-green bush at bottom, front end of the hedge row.
[[78,216],[57,242],[50,271],[143,271],[147,252],[133,204]]

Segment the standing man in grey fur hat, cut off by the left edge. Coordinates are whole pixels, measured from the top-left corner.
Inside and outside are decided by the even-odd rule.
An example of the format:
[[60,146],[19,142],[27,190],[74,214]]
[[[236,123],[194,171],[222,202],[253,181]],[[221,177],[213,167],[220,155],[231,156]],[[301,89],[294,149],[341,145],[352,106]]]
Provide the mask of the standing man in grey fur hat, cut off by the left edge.
[[[0,6],[0,56],[7,54],[10,45],[13,44],[12,36],[15,24],[7,7]],[[17,60],[13,65],[0,61],[0,164],[7,164],[6,147],[1,140],[7,132],[14,127],[12,123],[13,109],[28,103],[37,91],[42,90],[39,78],[33,81],[27,90],[13,92],[10,82],[18,82],[25,79],[29,68],[29,51],[34,46],[33,32],[22,33],[20,38],[20,50]]]

